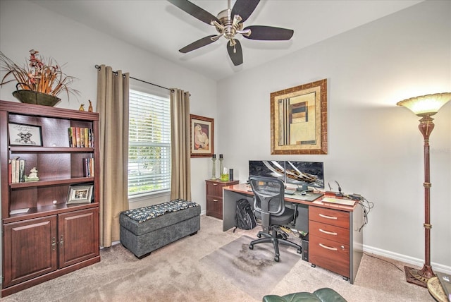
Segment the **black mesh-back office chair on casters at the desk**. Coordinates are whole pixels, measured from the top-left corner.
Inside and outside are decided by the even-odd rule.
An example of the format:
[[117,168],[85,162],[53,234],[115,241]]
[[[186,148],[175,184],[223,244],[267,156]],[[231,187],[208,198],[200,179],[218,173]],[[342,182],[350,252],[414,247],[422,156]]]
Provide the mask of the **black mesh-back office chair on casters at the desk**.
[[[288,241],[288,234],[280,226],[290,224],[295,219],[295,210],[285,207],[285,188],[283,181],[264,176],[250,176],[249,183],[254,192],[254,210],[261,215],[262,231],[259,231],[256,239],[249,243],[249,248],[254,249],[255,244],[272,242],[274,260],[279,261],[279,244],[292,246],[301,253],[301,246]],[[264,238],[261,238],[261,237]]]

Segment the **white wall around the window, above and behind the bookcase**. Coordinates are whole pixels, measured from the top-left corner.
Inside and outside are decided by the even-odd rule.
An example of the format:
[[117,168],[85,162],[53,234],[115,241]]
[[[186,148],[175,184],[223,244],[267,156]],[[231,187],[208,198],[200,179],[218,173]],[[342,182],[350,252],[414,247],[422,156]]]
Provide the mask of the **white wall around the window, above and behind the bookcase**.
[[[97,96],[96,64],[112,66],[114,70],[129,72],[130,76],[156,83],[163,87],[177,87],[191,93],[192,114],[216,118],[216,82],[188,71],[159,56],[104,35],[81,23],[48,11],[30,1],[0,1],[0,50],[18,64],[25,64],[28,51],[36,49],[46,57],[54,57],[59,64],[67,63],[63,71],[78,80],[73,87],[81,92],[77,100],[69,102],[64,95],[56,106],[78,109],[90,99],[95,109]],[[4,73],[0,76],[3,77]],[[132,85],[140,85],[130,80]],[[152,88],[152,86],[151,86]],[[18,102],[11,93],[15,84],[0,87],[0,99]],[[95,110],[94,110],[95,111]],[[192,200],[206,210],[205,179],[211,177],[211,160],[192,159]],[[2,176],[3,177],[3,176]],[[167,201],[169,196],[158,200],[140,200],[130,203],[130,208]]]

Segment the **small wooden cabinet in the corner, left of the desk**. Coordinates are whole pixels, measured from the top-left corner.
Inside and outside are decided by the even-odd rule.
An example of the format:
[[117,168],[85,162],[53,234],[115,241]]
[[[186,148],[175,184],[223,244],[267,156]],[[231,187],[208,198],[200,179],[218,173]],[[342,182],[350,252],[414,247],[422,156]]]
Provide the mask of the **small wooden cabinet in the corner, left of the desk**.
[[206,215],[223,219],[223,188],[239,181],[205,181]]

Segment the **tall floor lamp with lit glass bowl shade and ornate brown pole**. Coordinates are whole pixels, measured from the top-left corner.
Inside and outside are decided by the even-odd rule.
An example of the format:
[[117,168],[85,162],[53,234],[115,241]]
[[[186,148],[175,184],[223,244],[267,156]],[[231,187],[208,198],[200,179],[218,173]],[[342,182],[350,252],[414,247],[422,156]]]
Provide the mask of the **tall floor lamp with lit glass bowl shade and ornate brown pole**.
[[420,124],[418,126],[424,137],[424,246],[425,260],[421,270],[404,266],[407,282],[419,286],[427,287],[428,279],[434,277],[431,267],[431,222],[430,216],[430,190],[431,182],[429,180],[429,135],[434,128],[433,116],[438,112],[440,107],[451,99],[451,92],[437,93],[434,95],[423,95],[421,97],[412,97],[398,102],[398,106],[404,106],[412,110],[414,114],[420,116]]

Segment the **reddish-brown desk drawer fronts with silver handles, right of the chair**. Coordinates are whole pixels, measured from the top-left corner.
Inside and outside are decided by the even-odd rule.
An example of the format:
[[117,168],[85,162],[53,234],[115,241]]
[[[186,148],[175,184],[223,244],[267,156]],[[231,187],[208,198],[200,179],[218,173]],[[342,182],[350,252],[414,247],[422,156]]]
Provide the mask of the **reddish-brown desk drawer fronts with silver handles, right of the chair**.
[[350,212],[309,207],[309,262],[350,278]]

